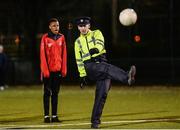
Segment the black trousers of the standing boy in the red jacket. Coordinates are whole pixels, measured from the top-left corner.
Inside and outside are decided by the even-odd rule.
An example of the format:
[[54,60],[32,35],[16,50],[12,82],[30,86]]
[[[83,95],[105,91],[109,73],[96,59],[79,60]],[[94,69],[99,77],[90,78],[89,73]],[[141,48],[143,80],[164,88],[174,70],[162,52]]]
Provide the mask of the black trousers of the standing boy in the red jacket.
[[49,78],[44,78],[44,115],[49,115],[50,99],[52,115],[57,115],[58,93],[60,90],[61,74],[60,72],[51,72]]

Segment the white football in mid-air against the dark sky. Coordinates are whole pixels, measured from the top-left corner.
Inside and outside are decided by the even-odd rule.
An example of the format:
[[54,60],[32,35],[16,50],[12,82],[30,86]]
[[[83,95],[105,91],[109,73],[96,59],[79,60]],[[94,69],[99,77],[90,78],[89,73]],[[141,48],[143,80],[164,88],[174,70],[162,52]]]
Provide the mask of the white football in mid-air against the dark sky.
[[134,25],[137,21],[137,14],[132,8],[124,9],[119,14],[119,21],[124,26]]

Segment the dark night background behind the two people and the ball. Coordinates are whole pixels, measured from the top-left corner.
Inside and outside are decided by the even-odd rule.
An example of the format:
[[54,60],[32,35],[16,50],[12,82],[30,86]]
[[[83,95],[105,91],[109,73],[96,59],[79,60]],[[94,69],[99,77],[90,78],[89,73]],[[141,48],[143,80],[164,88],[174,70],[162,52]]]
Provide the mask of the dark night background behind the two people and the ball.
[[[40,83],[40,38],[52,17],[60,20],[67,41],[64,82],[76,83],[73,44],[78,31],[74,19],[79,16],[90,16],[92,29],[103,32],[110,63],[125,70],[131,64],[137,66],[136,84],[179,84],[179,4],[179,0],[1,0],[0,44],[9,58],[7,84]],[[134,8],[138,15],[131,27],[122,26],[118,19],[125,8]],[[134,41],[135,35],[141,37],[140,42]]]

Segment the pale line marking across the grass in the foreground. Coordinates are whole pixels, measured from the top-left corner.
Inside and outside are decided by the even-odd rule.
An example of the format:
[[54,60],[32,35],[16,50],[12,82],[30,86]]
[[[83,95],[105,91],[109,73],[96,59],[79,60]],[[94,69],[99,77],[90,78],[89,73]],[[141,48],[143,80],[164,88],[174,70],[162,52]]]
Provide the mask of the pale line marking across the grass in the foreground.
[[[120,121],[104,121],[101,124],[121,124],[121,123],[147,123],[147,122],[167,122],[180,121],[180,118],[166,118],[166,119],[138,119],[138,120],[120,120]],[[44,125],[6,125],[0,124],[0,129],[8,128],[49,128],[49,127],[63,127],[63,126],[83,126],[91,123],[71,123],[71,124],[44,124]]]

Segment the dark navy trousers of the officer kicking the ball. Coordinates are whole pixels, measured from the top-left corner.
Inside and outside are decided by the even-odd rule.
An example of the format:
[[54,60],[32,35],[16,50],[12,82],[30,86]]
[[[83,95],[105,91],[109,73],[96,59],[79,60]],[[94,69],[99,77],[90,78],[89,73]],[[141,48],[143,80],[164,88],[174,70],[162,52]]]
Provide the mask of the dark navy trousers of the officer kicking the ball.
[[91,122],[100,123],[100,118],[110,89],[111,79],[127,83],[128,73],[106,62],[89,62],[85,69],[90,80],[96,81],[96,92]]

